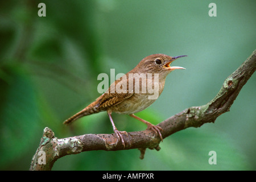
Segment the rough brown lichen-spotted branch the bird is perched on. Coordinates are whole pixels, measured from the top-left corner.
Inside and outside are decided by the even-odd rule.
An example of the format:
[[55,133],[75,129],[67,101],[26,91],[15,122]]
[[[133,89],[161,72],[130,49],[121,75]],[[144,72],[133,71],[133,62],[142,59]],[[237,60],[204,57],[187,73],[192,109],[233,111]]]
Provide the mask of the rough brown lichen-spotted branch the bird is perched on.
[[[163,138],[188,127],[200,127],[204,123],[214,122],[219,115],[229,111],[238,93],[253,75],[255,69],[256,50],[235,72],[226,78],[213,100],[202,106],[189,107],[159,123],[158,126],[163,129],[161,131]],[[151,130],[130,132],[127,136],[123,136],[123,139],[125,140],[125,150],[138,148],[141,151],[141,159],[143,159],[146,148],[160,150],[161,140]],[[124,150],[122,142],[115,146],[116,141],[115,134],[85,134],[57,139],[53,131],[46,127],[38,150],[32,158],[30,170],[51,170],[56,160],[65,155],[92,150]]]

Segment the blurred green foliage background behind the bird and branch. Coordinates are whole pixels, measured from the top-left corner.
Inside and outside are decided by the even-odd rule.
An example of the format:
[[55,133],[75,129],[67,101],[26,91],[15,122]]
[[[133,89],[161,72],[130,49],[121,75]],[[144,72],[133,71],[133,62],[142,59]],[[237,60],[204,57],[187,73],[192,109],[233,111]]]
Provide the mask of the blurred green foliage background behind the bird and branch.
[[[46,4],[46,17],[38,4]],[[217,5],[210,17],[209,3]],[[0,169],[27,170],[44,127],[57,138],[113,133],[107,114],[63,121],[94,101],[99,73],[126,73],[153,53],[188,55],[172,65],[164,92],[139,117],[156,124],[204,105],[254,51],[255,0],[1,1]],[[161,150],[89,151],[57,160],[53,170],[255,170],[255,74],[230,112],[164,139]],[[119,130],[146,126],[113,114]],[[209,151],[217,164],[209,165]]]

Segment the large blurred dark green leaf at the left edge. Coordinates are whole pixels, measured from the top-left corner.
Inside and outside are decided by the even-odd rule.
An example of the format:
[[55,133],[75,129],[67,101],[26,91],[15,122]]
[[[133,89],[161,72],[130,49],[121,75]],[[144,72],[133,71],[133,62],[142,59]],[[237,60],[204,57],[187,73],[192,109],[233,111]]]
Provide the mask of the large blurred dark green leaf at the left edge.
[[1,166],[29,150],[38,128],[36,94],[26,72],[19,65],[6,65],[2,72],[8,81],[0,80]]

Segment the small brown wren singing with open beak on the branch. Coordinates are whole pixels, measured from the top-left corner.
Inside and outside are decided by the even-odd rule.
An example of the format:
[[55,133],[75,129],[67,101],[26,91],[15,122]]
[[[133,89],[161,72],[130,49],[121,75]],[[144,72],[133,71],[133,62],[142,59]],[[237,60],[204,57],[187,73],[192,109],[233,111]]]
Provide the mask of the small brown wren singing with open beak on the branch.
[[161,127],[137,117],[134,113],[146,109],[155,102],[163,92],[166,77],[170,72],[175,69],[185,69],[183,67],[170,67],[172,61],[184,56],[171,57],[163,54],[154,54],[145,57],[134,69],[115,80],[109,89],[98,97],[96,101],[64,121],[64,124],[69,124],[85,115],[107,111],[114,133],[118,137],[117,143],[121,139],[123,147],[125,147],[122,134],[127,135],[127,132],[117,130],[111,114],[112,112],[129,114],[131,117],[146,123],[147,128],[154,131],[156,135],[158,134],[163,141],[160,133],[160,130],[163,130]]

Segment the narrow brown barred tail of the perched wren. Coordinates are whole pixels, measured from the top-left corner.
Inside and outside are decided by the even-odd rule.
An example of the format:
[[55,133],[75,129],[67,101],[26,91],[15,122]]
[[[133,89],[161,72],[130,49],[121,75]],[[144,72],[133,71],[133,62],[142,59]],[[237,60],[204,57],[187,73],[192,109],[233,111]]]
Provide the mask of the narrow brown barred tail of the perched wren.
[[81,110],[79,113],[76,113],[72,117],[68,118],[66,121],[63,122],[64,125],[68,125],[69,123],[76,121],[76,119],[79,119],[85,115],[90,115],[94,113],[98,113],[100,110],[97,110],[96,103],[93,102],[89,106],[85,107],[83,110]]

